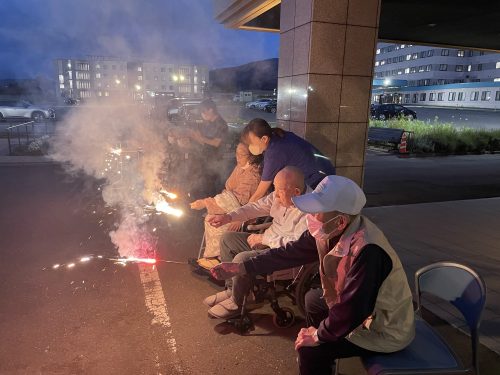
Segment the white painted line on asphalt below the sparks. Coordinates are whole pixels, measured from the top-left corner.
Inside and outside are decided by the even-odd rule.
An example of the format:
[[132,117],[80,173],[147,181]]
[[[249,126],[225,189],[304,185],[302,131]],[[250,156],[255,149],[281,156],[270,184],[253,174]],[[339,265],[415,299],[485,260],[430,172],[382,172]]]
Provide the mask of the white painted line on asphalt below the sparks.
[[[172,324],[168,316],[167,302],[163,294],[160,277],[156,267],[139,264],[139,275],[141,278],[146,307],[153,314],[151,324],[158,324],[165,328],[166,342],[172,355],[172,362],[175,369],[182,373],[179,357],[177,355],[177,343],[172,331]],[[159,356],[156,355],[156,367],[160,370]]]

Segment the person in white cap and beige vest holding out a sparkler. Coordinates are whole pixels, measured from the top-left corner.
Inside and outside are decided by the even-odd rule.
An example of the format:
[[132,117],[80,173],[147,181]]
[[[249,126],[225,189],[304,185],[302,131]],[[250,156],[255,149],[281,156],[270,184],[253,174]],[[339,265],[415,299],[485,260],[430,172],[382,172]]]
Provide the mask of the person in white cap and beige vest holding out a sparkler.
[[307,328],[295,341],[302,375],[331,374],[337,358],[405,348],[415,334],[411,291],[395,250],[360,214],[366,203],[361,188],[327,176],[293,202],[308,213],[308,230],[299,240],[240,264],[222,263],[213,276],[271,273],[319,256],[322,289],[307,292]]

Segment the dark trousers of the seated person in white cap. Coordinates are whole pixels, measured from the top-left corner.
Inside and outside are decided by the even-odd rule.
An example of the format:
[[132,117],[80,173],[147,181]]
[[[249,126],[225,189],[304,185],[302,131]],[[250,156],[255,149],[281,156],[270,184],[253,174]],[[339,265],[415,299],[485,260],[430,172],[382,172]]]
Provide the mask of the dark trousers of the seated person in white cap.
[[[307,326],[318,328],[323,319],[328,316],[328,305],[322,298],[322,289],[311,289],[306,293]],[[299,370],[301,375],[331,375],[335,370],[337,358],[358,357],[374,354],[370,350],[360,348],[349,340],[324,343],[314,347],[299,349]]]

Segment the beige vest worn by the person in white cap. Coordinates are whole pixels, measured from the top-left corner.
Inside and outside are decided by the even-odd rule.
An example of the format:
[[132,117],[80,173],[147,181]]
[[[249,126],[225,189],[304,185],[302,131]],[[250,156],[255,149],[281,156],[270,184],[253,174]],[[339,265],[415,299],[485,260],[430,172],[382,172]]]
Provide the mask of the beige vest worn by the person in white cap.
[[357,216],[333,249],[316,241],[324,298],[331,308],[338,301],[345,278],[360,250],[368,244],[381,247],[392,261],[392,270],[382,283],[373,314],[347,339],[362,348],[395,352],[405,348],[415,335],[412,295],[401,261],[384,234],[364,216]]

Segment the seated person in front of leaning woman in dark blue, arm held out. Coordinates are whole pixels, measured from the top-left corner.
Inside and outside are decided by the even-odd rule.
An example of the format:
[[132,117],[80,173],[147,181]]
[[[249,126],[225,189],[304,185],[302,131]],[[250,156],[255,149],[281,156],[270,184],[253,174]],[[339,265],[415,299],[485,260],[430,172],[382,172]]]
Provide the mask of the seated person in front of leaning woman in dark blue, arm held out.
[[[194,210],[207,209],[208,214],[224,214],[246,204],[260,181],[260,158],[250,154],[248,147],[240,143],[236,147],[236,167],[226,181],[226,187],[214,197],[198,199],[191,203]],[[219,241],[226,231],[238,230],[239,225],[226,224],[215,228],[205,220],[205,252],[198,264],[206,269],[219,264]]]

